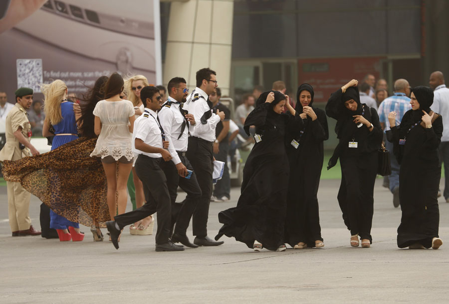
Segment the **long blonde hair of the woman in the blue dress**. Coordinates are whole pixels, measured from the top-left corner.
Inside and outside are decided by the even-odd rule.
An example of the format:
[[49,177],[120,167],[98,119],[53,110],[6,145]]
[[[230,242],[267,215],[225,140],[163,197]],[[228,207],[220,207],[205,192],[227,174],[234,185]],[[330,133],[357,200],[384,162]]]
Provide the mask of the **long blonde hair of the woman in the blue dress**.
[[52,125],[58,124],[62,120],[60,104],[66,89],[67,85],[60,79],[56,79],[50,84],[40,85],[40,90],[44,94],[45,120]]

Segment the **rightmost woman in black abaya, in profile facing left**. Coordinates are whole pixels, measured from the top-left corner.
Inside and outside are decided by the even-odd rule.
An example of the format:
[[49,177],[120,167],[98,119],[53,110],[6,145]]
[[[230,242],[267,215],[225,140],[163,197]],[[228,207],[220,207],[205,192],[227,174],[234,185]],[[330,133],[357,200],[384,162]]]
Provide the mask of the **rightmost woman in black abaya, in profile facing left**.
[[434,92],[417,86],[411,93],[412,109],[396,126],[396,112],[388,115],[392,126],[387,139],[394,144],[394,152],[401,164],[399,173],[399,202],[402,209],[398,228],[398,247],[410,249],[438,249],[443,241],[438,237],[440,211],[438,189],[441,164],[438,146],[443,134],[443,119],[430,106]]

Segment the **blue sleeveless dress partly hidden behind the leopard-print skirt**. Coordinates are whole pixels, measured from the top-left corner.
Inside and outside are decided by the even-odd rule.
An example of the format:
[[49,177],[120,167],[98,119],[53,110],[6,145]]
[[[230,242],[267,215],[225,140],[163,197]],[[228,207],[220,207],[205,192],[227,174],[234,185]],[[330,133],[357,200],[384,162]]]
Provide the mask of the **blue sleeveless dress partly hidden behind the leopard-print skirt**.
[[[58,124],[53,125],[55,130],[54,134],[78,134],[75,112],[73,111],[73,102],[66,101],[61,103],[61,115],[62,120]],[[78,139],[78,135],[57,135],[53,137],[51,150],[54,150],[75,139]],[[67,229],[68,226],[79,228],[78,223],[71,222],[64,217],[57,215],[53,212],[53,210],[50,210],[50,228]]]

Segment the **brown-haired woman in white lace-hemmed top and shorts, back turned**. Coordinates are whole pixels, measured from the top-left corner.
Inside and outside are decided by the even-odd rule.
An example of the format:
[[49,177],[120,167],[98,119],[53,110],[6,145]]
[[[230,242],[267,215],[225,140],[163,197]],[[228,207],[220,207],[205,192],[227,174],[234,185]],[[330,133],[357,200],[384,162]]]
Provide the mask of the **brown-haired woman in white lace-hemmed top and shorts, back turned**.
[[114,219],[117,209],[118,214],[125,213],[126,181],[134,157],[131,138],[136,118],[131,101],[120,98],[123,89],[122,76],[113,73],[104,84],[105,99],[100,100],[93,110],[94,131],[98,139],[90,156],[101,157],[106,173],[107,201],[111,219]]

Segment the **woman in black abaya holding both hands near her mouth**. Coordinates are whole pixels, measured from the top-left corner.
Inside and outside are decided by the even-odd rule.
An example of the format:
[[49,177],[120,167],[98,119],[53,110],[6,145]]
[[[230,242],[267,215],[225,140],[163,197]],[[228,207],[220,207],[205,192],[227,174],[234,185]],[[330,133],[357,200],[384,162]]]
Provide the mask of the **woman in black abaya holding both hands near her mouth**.
[[299,128],[289,129],[286,151],[290,163],[285,241],[294,249],[324,247],[321,237],[318,186],[323,167],[323,141],[329,138],[326,113],[312,106],[313,88],[303,83],[296,92]]

